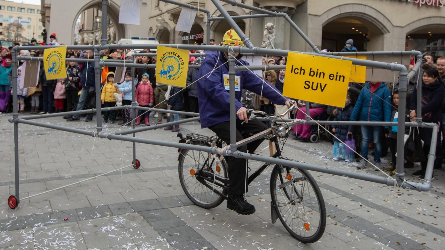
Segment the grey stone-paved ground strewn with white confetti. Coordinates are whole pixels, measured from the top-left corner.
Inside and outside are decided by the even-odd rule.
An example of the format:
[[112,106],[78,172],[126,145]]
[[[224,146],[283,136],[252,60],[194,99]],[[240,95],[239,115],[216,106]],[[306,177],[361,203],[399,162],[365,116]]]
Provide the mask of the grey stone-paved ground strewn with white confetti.
[[[26,115],[26,114],[25,114]],[[130,165],[133,145],[94,139],[65,131],[19,124],[20,204],[9,209],[14,185],[11,114],[0,115],[0,248],[1,249],[444,249],[444,171],[434,173],[429,192],[386,187],[347,177],[311,172],[323,193],[327,226],[313,244],[292,238],[279,221],[271,223],[269,168],[249,187],[247,199],[255,214],[238,215],[225,202],[206,210],[193,205],[178,181],[175,148],[136,144],[141,167]],[[153,119],[153,117],[150,117]],[[38,119],[95,131],[93,122],[66,122],[61,117]],[[154,120],[154,119],[153,119]],[[105,124],[105,132],[126,130]],[[198,122],[181,131],[211,135]],[[138,137],[177,142],[162,129]],[[267,144],[259,148],[267,154]],[[334,162],[332,145],[290,138],[283,155],[319,166],[383,176],[371,167]],[[388,157],[382,159],[388,163]],[[250,161],[255,169],[258,162]],[[130,167],[125,167],[130,166]],[[97,175],[125,167],[101,177]],[[406,178],[418,166],[406,170]],[[77,183],[78,181],[91,180]],[[77,183],[69,187],[44,191]],[[33,194],[36,195],[27,198]]]

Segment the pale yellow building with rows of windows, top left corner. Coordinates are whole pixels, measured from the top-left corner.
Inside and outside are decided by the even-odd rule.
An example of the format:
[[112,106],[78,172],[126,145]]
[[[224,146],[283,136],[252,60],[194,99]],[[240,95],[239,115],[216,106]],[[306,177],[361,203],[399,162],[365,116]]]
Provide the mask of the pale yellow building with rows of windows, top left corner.
[[34,37],[42,41],[40,5],[0,0],[0,40],[3,46],[13,42],[28,44]]

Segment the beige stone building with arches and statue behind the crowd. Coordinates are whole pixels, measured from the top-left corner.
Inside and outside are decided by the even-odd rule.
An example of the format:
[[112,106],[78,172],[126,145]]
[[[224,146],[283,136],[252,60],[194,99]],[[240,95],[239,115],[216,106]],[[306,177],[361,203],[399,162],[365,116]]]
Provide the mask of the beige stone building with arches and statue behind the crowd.
[[[221,16],[210,0],[180,0],[206,8],[211,16]],[[319,48],[340,51],[353,39],[359,51],[421,50],[441,56],[445,41],[445,0],[239,0],[259,8],[286,12]],[[59,42],[74,44],[78,16],[80,27],[93,34],[100,25],[101,0],[42,0],[42,20],[48,33],[56,32]],[[112,43],[131,36],[155,37],[161,44],[200,44],[207,32],[218,43],[229,27],[227,21],[212,21],[206,30],[206,15],[198,12],[190,33],[175,27],[181,7],[160,1],[142,0],[141,24],[119,24],[120,0],[109,0],[109,40]],[[223,3],[232,15],[257,14]],[[65,11],[69,9],[70,11]],[[89,9],[93,9],[89,11]],[[88,10],[88,11],[87,11]],[[99,23],[96,22],[99,20]],[[267,17],[236,20],[255,46],[261,46],[267,23],[275,25],[275,48],[310,51],[311,48],[283,18]],[[161,25],[162,24],[162,25]],[[91,29],[90,29],[91,26]],[[97,27],[96,27],[97,28]],[[83,36],[81,36],[82,39]],[[89,36],[91,40],[91,36]]]

